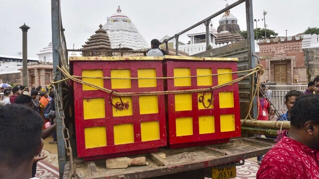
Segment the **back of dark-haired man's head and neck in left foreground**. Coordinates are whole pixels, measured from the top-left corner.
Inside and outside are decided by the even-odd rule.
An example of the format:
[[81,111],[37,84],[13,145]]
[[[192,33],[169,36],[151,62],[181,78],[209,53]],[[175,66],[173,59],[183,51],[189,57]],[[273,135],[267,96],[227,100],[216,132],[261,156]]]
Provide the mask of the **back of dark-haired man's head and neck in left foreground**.
[[43,119],[20,104],[0,107],[0,179],[30,179],[43,147]]

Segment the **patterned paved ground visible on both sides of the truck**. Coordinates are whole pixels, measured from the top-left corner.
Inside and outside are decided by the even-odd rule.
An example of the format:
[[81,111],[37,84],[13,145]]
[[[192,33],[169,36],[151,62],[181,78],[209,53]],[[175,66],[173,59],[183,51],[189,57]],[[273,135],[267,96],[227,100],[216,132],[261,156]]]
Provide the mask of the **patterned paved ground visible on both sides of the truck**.
[[[58,156],[57,145],[49,144],[52,141],[51,137],[44,140],[42,152],[48,157],[44,162],[38,164],[37,176],[40,179],[58,179]],[[236,167],[236,179],[256,179],[256,173],[259,169],[256,158],[245,160],[245,165]]]

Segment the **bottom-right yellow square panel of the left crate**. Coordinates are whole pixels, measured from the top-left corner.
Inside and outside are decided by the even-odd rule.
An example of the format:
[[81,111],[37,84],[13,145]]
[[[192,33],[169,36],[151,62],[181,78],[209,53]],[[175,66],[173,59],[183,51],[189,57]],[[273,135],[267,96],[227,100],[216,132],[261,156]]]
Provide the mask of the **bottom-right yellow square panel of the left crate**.
[[142,141],[152,141],[160,139],[159,121],[141,123]]

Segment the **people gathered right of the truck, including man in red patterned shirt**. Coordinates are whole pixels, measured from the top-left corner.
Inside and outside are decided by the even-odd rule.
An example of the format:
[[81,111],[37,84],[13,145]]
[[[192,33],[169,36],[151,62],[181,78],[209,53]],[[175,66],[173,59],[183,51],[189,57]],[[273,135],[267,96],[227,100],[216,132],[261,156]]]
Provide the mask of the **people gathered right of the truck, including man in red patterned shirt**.
[[262,85],[259,91],[257,119],[290,121],[291,129],[278,135],[278,143],[265,156],[257,157],[261,165],[257,179],[319,179],[319,76],[308,83],[304,93],[287,92],[287,112],[280,116],[271,111],[272,92],[265,89]]

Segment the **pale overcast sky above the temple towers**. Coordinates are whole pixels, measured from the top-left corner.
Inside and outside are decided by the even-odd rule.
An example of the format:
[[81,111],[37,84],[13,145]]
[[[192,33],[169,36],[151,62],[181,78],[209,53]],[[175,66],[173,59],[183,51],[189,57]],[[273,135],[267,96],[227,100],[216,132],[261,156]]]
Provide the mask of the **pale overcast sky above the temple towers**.
[[[95,33],[99,24],[116,13],[118,5],[132,19],[150,44],[153,38],[173,36],[183,29],[212,15],[225,7],[224,0],[61,0],[62,23],[65,28],[67,48],[81,45]],[[228,0],[231,4],[236,0]],[[267,28],[279,36],[302,33],[310,27],[319,27],[319,0],[253,0],[253,16],[263,27],[263,10]],[[241,30],[246,30],[245,3],[230,10],[238,18]],[[212,19],[217,29],[222,15]],[[28,31],[28,57],[37,53],[52,41],[51,0],[0,0],[0,54],[18,56],[22,52],[22,31],[25,22]],[[254,23],[256,25],[256,23]],[[256,27],[256,26],[255,26]],[[187,33],[186,33],[187,34]],[[186,35],[180,37],[187,42]]]

